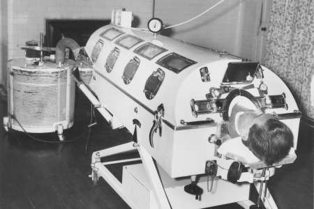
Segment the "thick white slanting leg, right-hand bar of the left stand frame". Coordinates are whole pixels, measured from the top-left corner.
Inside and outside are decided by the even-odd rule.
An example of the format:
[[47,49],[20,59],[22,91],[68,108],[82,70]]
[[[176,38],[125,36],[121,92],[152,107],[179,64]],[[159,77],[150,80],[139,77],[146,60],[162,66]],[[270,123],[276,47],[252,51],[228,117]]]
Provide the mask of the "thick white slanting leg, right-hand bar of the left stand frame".
[[140,156],[142,158],[142,162],[144,164],[145,171],[147,173],[147,177],[153,187],[154,195],[158,204],[158,208],[170,209],[170,203],[167,199],[167,195],[165,194],[165,189],[163,188],[163,184],[160,181],[156,166],[154,164],[154,160],[149,155],[147,150],[143,147],[137,148]]

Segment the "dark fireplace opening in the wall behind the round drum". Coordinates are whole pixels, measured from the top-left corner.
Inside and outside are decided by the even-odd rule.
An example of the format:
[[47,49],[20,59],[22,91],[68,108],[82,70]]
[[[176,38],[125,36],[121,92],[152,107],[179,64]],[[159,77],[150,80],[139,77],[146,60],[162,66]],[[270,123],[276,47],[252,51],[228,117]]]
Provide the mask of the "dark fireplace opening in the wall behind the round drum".
[[46,20],[45,45],[55,47],[64,36],[85,46],[91,33],[106,24],[110,24],[110,20]]

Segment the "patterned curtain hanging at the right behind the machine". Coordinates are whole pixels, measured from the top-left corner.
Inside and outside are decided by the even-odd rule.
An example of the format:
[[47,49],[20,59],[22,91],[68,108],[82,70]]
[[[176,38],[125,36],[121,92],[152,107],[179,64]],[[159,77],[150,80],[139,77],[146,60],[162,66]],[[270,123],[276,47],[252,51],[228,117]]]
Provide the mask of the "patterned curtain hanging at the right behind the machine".
[[273,2],[264,65],[287,84],[303,115],[314,118],[311,102],[314,3],[312,0]]

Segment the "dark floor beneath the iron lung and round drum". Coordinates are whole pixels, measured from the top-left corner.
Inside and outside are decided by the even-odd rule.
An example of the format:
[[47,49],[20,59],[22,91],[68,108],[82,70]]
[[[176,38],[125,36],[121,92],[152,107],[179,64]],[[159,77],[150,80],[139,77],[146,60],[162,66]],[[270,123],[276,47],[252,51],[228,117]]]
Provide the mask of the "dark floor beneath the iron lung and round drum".
[[[91,153],[130,140],[126,130],[110,130],[107,123],[93,128],[86,152],[89,103],[78,95],[75,126],[67,139],[84,134],[69,144],[43,144],[24,133],[6,133],[0,127],[0,208],[128,208],[104,180],[93,187],[88,178]],[[0,102],[0,118],[6,102]],[[37,134],[55,140],[55,134]],[[313,209],[313,130],[301,124],[297,161],[278,169],[269,182],[278,208]],[[121,167],[111,167],[121,178]],[[236,204],[215,207],[239,208]]]

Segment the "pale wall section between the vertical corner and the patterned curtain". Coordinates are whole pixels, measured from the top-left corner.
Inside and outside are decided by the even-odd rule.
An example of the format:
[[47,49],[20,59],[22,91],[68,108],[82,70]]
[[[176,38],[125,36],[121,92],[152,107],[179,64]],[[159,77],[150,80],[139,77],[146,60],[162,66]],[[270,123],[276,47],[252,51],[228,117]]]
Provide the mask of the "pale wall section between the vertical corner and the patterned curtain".
[[[155,17],[172,25],[195,17],[218,0],[156,0]],[[198,19],[172,30],[172,37],[255,59],[260,0],[226,0]]]

